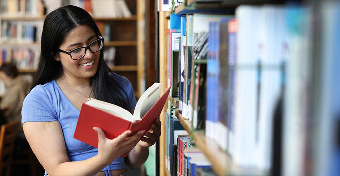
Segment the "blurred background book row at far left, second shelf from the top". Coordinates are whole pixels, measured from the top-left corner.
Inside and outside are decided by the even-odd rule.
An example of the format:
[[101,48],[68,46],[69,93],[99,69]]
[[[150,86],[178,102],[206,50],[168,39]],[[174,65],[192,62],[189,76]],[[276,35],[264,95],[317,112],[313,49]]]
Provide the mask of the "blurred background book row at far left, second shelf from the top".
[[32,43],[36,39],[37,27],[34,24],[22,22],[1,22],[1,42]]

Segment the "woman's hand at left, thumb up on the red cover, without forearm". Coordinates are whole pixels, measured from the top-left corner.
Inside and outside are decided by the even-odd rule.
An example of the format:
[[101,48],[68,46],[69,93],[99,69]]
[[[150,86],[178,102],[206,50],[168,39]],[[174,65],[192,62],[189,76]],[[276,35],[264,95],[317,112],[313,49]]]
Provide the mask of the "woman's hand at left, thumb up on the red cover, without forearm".
[[98,134],[98,157],[105,161],[107,165],[119,156],[131,151],[145,133],[143,130],[130,136],[131,131],[125,131],[114,139],[108,139],[99,127],[93,127],[93,130]]

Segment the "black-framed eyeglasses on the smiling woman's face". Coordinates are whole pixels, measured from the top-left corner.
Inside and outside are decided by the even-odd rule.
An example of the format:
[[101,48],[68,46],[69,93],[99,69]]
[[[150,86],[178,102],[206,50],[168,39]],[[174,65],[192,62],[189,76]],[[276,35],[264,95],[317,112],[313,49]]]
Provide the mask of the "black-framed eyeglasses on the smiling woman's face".
[[93,41],[92,43],[88,44],[85,47],[78,47],[78,48],[72,49],[69,52],[61,50],[61,49],[58,49],[58,51],[70,55],[72,60],[81,59],[86,55],[87,49],[89,49],[92,53],[95,53],[95,52],[100,51],[103,48],[104,38],[102,38],[99,35],[98,35],[98,37],[99,37],[99,39]]

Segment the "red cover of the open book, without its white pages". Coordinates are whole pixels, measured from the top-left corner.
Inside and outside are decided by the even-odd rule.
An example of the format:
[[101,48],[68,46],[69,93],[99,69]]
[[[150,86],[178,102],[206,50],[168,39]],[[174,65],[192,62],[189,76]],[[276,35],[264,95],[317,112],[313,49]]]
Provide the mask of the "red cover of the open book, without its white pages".
[[[170,88],[157,100],[141,120],[134,122],[83,103],[73,138],[98,148],[98,134],[93,130],[93,127],[101,128],[109,139],[116,138],[126,130],[131,130],[132,134],[141,130],[148,131],[151,124],[159,118],[169,91]],[[122,157],[127,156],[127,154]]]

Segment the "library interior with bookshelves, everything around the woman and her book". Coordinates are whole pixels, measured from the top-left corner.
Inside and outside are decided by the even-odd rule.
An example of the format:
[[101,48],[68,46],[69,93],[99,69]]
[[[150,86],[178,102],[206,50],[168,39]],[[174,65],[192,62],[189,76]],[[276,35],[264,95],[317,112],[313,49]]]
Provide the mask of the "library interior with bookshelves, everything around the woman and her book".
[[137,100],[171,87],[128,176],[340,176],[338,0],[0,0],[0,176],[44,175],[3,104],[21,111],[44,19],[65,5],[92,16]]

